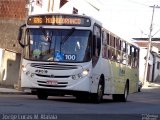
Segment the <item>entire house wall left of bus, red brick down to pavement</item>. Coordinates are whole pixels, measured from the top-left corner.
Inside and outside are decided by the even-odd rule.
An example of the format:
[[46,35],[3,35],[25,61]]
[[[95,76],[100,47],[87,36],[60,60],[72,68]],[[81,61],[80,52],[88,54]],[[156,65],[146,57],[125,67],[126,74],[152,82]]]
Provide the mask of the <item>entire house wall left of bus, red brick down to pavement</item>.
[[25,23],[27,0],[0,0],[0,85],[18,84],[21,51],[17,36]]

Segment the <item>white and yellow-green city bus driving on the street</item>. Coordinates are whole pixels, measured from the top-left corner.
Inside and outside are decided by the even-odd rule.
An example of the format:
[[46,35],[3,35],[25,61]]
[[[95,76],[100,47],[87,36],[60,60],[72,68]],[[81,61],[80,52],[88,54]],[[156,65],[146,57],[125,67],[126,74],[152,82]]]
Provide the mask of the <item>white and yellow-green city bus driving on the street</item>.
[[102,102],[104,95],[127,101],[138,91],[137,45],[89,16],[38,14],[19,28],[23,48],[21,87],[38,99],[73,95]]

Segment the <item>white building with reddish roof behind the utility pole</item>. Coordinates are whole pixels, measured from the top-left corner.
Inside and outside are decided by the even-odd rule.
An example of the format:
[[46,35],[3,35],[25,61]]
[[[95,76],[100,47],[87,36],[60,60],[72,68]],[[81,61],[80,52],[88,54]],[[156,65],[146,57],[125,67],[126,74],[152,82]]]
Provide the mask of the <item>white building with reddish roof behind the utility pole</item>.
[[[139,79],[143,81],[147,56],[148,38],[133,38],[134,42],[140,46],[139,56]],[[147,81],[160,81],[160,38],[152,38],[151,51],[149,54]]]

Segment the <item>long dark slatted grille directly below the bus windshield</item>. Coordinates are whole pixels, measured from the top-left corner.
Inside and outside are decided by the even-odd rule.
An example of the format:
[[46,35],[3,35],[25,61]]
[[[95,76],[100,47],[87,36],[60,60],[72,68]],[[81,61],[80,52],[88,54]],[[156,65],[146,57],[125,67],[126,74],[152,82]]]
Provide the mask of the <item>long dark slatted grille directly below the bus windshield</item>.
[[70,69],[77,69],[78,68],[75,65],[39,64],[39,63],[31,63],[31,67],[41,68],[41,69],[51,69],[51,70],[70,70]]

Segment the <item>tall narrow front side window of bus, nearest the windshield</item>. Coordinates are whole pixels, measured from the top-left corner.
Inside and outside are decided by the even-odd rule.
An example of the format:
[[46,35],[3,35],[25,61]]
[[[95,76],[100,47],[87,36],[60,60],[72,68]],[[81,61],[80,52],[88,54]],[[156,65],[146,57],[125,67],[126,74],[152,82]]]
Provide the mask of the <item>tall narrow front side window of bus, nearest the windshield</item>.
[[94,26],[94,35],[93,35],[93,56],[98,57],[101,50],[101,28]]

